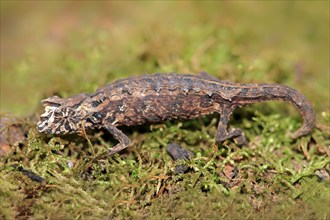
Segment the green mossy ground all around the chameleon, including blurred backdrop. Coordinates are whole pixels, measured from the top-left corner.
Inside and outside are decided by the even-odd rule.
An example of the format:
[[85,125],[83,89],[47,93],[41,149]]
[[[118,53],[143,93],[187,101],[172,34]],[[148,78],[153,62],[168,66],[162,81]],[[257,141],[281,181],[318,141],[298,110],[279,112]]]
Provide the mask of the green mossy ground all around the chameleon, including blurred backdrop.
[[[0,159],[0,218],[329,219],[328,8],[326,1],[1,1],[2,112],[37,116],[42,98],[93,92],[130,75],[207,71],[298,89],[316,109],[317,128],[293,142],[287,133],[301,125],[295,109],[263,103],[231,121],[246,146],[214,145],[210,116],[124,128],[131,146],[95,161],[115,144],[106,132],[44,136],[32,116],[22,123],[26,143]],[[195,156],[174,163],[171,142]],[[190,170],[175,175],[180,163]]]

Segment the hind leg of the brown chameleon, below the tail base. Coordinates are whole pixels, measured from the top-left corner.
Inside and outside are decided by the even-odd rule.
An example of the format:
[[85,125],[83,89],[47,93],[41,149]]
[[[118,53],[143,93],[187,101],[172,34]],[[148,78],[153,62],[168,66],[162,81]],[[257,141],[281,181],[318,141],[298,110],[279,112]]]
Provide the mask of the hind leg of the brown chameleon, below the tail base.
[[215,141],[217,144],[222,144],[222,142],[231,138],[234,138],[237,141],[237,144],[240,146],[246,143],[245,135],[241,129],[234,128],[228,131],[228,122],[233,110],[234,108],[231,108],[230,106],[225,106],[220,111],[218,130],[215,136]]

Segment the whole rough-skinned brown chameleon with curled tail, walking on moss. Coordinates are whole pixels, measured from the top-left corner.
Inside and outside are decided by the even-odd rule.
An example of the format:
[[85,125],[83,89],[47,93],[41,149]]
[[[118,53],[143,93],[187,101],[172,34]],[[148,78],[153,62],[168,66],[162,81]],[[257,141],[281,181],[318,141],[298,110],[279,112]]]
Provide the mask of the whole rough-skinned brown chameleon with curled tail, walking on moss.
[[240,84],[219,80],[207,73],[150,74],[121,79],[98,89],[69,98],[53,96],[42,100],[45,112],[37,130],[65,135],[85,130],[106,129],[118,143],[109,148],[111,156],[131,143],[118,127],[136,126],[167,120],[188,120],[219,113],[215,142],[227,139],[246,143],[243,131],[228,129],[237,108],[269,100],[293,104],[303,118],[302,126],[292,139],[312,132],[315,112],[309,101],[297,90],[280,84]]

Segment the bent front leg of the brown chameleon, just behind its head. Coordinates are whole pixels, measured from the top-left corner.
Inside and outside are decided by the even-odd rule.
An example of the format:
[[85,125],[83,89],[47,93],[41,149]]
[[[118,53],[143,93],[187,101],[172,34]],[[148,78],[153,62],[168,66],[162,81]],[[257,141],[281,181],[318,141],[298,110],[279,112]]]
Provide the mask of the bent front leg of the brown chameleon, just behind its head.
[[119,151],[124,150],[131,143],[131,140],[121,130],[119,130],[116,126],[110,124],[110,125],[105,126],[105,128],[119,142],[114,147],[109,149],[108,156],[111,156],[115,153],[118,153]]

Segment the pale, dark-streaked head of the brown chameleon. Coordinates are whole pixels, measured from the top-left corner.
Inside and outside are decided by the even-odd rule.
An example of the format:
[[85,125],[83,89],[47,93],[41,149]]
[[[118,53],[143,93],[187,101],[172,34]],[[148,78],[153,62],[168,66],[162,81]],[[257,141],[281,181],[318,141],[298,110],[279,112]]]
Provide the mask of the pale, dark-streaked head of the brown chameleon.
[[81,117],[75,106],[57,96],[42,101],[45,112],[37,124],[39,132],[46,134],[70,134],[81,130]]

